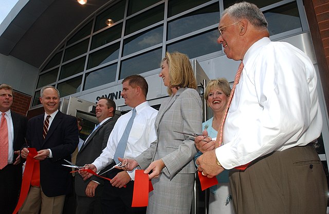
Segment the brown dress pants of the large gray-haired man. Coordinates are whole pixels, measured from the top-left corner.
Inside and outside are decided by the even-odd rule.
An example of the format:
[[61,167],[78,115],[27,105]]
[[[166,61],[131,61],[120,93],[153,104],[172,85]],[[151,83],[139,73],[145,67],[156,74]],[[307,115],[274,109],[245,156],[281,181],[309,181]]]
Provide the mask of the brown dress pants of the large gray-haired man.
[[230,170],[236,214],[325,214],[327,181],[312,145],[275,151]]

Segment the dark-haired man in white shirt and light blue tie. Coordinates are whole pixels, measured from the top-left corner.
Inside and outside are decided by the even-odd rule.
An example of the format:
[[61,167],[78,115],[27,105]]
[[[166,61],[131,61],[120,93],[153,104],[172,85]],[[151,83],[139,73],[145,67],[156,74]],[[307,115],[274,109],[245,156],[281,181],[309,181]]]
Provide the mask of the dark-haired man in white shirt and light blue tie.
[[[127,106],[136,109],[136,116],[129,133],[124,157],[120,158],[137,157],[157,139],[154,126],[157,110],[146,101],[147,93],[148,83],[140,75],[128,76],[122,81],[121,96]],[[132,115],[133,110],[120,116],[109,135],[106,148],[92,164],[88,164],[90,169],[100,172],[106,166],[113,166],[116,162],[118,163],[118,160],[113,160],[114,154]],[[91,176],[88,173],[81,172],[81,174],[84,179]],[[104,183],[101,197],[103,214],[146,212],[146,207],[132,207],[135,170],[127,172],[113,169],[106,173],[106,177],[112,180],[111,183],[107,181]],[[126,187],[122,188],[124,185]]]

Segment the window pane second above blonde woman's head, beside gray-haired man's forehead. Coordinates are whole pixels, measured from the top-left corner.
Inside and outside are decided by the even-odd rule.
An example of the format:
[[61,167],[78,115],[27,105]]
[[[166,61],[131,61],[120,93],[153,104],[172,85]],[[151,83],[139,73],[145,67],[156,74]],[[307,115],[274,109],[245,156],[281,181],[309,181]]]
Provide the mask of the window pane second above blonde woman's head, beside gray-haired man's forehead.
[[217,24],[219,17],[218,3],[181,16],[168,23],[168,40]]

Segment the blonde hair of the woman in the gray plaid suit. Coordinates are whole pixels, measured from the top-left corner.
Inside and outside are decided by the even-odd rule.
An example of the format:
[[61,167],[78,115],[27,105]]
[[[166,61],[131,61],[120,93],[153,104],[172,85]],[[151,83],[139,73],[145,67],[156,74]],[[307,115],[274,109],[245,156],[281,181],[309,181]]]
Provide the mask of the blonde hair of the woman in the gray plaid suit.
[[172,94],[171,88],[193,88],[196,89],[196,80],[194,72],[189,60],[189,57],[184,53],[166,52],[166,57],[162,59],[163,62],[167,61],[170,76],[170,87],[167,92]]

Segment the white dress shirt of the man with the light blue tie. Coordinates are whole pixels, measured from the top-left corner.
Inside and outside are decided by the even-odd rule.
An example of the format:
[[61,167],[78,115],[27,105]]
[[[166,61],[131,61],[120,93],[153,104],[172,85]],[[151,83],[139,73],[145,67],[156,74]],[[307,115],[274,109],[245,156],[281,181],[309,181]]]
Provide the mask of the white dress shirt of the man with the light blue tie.
[[[154,122],[158,111],[152,108],[148,102],[136,106],[136,116],[130,131],[124,158],[135,158],[148,149],[152,142],[157,140]],[[113,163],[113,157],[117,145],[122,137],[124,129],[132,116],[132,111],[120,116],[114,128],[109,134],[107,145],[100,157],[94,161],[97,173]],[[128,172],[131,179],[135,180],[135,170]]]

